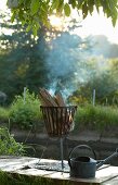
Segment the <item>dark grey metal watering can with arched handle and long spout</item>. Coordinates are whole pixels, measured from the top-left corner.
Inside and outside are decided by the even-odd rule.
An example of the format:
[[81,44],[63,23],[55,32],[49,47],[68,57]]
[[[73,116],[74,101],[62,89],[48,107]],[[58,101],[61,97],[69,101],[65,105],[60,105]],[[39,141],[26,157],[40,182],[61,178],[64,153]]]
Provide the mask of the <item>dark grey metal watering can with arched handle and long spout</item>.
[[109,156],[106,159],[101,160],[101,161],[92,159],[88,156],[80,156],[77,158],[71,158],[73,153],[78,148],[89,149],[93,152],[94,157],[96,157],[94,150],[88,145],[79,145],[79,146],[75,147],[70,151],[69,157],[68,157],[68,164],[70,166],[70,176],[71,177],[80,177],[80,178],[95,177],[95,172],[100,166],[102,166],[104,163],[106,163],[114,157],[118,156],[118,148],[117,148],[116,151],[112,156]]

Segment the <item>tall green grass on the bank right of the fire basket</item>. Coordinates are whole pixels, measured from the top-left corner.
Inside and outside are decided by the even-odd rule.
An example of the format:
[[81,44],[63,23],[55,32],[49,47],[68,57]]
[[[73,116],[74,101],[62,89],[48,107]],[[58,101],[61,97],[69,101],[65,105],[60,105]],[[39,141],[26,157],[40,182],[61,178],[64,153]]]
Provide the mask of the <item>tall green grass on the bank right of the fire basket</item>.
[[78,108],[76,118],[76,130],[79,126],[87,126],[93,130],[102,131],[112,125],[118,125],[118,108],[104,107],[104,106],[91,106]]

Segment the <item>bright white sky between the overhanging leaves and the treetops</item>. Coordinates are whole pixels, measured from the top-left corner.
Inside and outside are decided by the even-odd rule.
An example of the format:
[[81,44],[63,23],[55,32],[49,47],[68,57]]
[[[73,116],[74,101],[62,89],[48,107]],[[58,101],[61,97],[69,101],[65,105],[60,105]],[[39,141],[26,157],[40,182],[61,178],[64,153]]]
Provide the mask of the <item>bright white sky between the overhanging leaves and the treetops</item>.
[[[0,0],[1,10],[6,9],[5,2],[6,0]],[[76,14],[75,16],[77,17]],[[57,21],[55,21],[55,23]],[[89,35],[105,35],[110,42],[118,44],[118,21],[116,26],[114,27],[110,18],[106,18],[103,12],[97,14],[97,12],[94,11],[92,16],[89,15],[86,20],[81,22],[81,27],[75,29],[74,34],[77,34],[82,38],[88,37]]]

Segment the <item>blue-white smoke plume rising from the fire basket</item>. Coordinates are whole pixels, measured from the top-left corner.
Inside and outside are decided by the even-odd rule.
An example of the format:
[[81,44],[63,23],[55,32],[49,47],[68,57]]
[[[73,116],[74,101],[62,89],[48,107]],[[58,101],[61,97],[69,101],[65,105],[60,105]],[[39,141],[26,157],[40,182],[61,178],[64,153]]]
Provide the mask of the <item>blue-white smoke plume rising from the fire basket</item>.
[[50,41],[47,65],[52,91],[62,90],[67,97],[94,74],[102,75],[108,69],[108,62],[102,51],[100,54],[100,50],[95,50],[95,44],[91,37],[82,39],[67,32]]

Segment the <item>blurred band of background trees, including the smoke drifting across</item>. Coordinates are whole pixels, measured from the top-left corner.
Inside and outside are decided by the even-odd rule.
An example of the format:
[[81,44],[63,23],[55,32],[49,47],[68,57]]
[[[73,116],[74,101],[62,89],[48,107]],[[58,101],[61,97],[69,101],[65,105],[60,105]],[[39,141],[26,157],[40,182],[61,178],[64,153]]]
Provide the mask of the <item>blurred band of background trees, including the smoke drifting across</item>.
[[90,102],[96,89],[97,102],[117,103],[118,45],[105,36],[82,39],[69,26],[66,32],[42,27],[34,38],[10,16],[1,14],[1,30],[8,32],[0,35],[0,90],[8,103],[24,87],[36,94],[39,87],[62,90],[76,103]]

